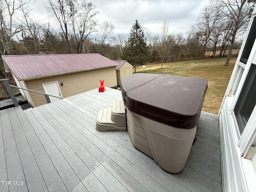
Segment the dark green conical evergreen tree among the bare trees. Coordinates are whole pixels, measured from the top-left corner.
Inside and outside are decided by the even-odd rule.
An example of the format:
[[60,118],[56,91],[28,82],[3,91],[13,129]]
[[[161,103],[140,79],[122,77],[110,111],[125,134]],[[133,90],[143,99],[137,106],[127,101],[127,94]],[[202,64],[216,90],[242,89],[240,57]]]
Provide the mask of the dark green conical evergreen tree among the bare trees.
[[132,25],[129,38],[125,44],[122,58],[136,67],[149,61],[149,48],[146,44],[144,32],[138,20]]

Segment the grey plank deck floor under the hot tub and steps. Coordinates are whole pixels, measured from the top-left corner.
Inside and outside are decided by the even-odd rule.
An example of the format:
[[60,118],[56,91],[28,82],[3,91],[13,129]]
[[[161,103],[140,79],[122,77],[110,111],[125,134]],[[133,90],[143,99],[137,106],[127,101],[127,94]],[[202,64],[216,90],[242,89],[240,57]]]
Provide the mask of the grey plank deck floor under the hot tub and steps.
[[1,110],[0,191],[222,191],[218,116],[202,112],[186,166],[171,174],[127,132],[95,130],[99,110],[120,99],[106,88],[26,112]]

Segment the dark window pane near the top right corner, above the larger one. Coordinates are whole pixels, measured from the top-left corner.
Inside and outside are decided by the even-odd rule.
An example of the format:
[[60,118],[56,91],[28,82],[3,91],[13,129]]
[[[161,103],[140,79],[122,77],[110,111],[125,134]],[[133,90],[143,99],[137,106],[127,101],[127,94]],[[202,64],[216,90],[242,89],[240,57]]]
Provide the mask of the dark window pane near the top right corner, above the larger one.
[[240,62],[246,64],[250,52],[252,50],[252,46],[254,44],[255,38],[256,38],[256,19],[254,18],[253,22],[252,22],[252,27],[250,29],[250,32],[248,34],[248,38],[246,40],[245,46],[244,46],[244,50],[242,53],[242,56],[240,58]]

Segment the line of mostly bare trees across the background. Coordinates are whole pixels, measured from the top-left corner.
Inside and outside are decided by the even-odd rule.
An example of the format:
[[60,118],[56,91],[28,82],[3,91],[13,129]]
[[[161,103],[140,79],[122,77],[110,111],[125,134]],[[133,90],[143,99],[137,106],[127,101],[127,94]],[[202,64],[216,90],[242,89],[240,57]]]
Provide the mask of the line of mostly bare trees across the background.
[[[55,23],[36,22],[34,0],[0,0],[0,54],[99,53],[134,66],[213,57],[239,48],[256,0],[211,0],[186,33],[170,32],[168,20],[152,33],[135,20],[130,34],[117,34],[110,21],[98,21],[92,2],[47,0],[44,9]],[[175,30],[175,29],[172,29]],[[219,54],[217,53],[219,51]],[[8,78],[0,64],[0,78]]]

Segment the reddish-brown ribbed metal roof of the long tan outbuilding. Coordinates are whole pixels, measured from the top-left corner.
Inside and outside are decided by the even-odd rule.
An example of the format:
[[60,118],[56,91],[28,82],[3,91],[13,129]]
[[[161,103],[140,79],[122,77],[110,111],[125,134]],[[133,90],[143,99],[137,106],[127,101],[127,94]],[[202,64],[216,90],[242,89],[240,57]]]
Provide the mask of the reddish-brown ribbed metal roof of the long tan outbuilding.
[[2,55],[2,58],[17,79],[117,66],[116,62],[97,53]]

